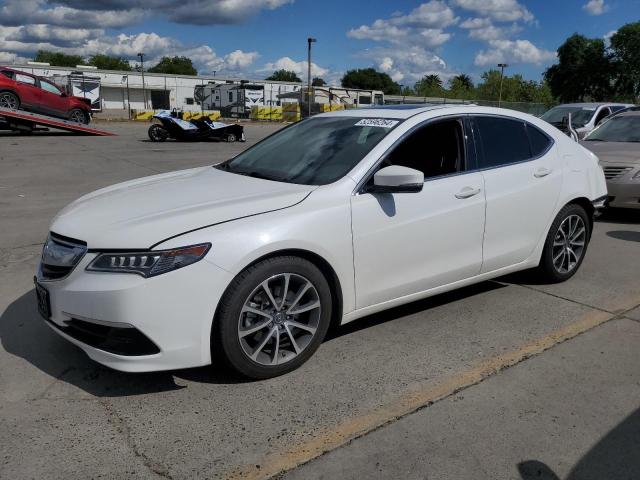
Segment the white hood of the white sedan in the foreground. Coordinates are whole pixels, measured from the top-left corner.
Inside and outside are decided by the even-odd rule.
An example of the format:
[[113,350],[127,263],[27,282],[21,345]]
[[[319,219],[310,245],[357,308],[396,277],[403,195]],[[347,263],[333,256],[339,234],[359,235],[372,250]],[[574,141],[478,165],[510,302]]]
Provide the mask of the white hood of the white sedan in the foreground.
[[273,182],[212,167],[103,188],[65,207],[51,231],[88,248],[150,248],[194,229],[295,205],[313,186]]

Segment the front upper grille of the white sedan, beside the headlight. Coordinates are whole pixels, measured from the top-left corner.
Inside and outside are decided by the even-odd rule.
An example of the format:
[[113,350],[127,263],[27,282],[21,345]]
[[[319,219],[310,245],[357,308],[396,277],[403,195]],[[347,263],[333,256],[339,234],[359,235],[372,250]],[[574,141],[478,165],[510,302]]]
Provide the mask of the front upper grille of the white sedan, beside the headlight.
[[82,240],[49,233],[40,259],[40,278],[59,280],[71,273],[87,251]]

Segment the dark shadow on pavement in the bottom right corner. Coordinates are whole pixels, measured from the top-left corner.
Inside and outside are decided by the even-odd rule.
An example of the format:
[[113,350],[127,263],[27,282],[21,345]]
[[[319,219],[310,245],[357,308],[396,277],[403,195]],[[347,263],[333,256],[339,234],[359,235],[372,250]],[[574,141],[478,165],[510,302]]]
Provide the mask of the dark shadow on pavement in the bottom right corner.
[[[529,460],[518,464],[522,480],[560,480],[546,464]],[[640,478],[640,409],[605,435],[571,469],[566,480]]]

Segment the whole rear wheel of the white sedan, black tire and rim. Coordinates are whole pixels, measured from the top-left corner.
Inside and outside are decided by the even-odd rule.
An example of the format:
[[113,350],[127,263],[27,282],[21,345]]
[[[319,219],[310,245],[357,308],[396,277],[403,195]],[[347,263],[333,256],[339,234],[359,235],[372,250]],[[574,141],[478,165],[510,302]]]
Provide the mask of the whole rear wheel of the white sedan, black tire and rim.
[[538,272],[550,283],[564,282],[575,275],[587,253],[591,225],[587,212],[575,203],[558,213],[545,240]]

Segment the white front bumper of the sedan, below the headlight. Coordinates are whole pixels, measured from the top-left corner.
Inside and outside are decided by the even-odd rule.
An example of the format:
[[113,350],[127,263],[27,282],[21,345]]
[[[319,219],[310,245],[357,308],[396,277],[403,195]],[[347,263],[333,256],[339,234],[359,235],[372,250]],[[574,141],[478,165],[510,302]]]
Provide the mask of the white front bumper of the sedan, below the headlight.
[[172,370],[211,363],[213,316],[231,274],[206,257],[151,278],[87,272],[95,256],[86,254],[62,280],[37,279],[49,293],[47,324],[54,331],[116,370]]

